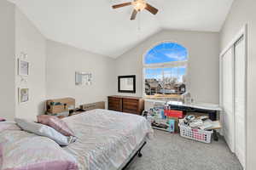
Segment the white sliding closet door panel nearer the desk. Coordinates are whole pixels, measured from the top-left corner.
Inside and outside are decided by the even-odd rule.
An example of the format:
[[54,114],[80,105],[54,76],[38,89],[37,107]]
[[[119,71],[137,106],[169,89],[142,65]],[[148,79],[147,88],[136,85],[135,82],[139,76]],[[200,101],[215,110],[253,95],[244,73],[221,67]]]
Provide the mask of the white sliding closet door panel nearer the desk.
[[234,152],[234,58],[233,48],[222,56],[222,106],[224,138]]

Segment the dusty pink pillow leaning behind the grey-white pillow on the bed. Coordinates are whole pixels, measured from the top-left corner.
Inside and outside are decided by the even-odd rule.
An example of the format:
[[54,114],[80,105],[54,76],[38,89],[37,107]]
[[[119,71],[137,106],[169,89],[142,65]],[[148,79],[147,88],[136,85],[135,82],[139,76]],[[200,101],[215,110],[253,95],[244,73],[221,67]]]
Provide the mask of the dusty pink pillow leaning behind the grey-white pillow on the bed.
[[67,126],[67,123],[56,116],[40,115],[38,116],[38,123],[53,127],[56,131],[65,136],[74,136],[73,131]]

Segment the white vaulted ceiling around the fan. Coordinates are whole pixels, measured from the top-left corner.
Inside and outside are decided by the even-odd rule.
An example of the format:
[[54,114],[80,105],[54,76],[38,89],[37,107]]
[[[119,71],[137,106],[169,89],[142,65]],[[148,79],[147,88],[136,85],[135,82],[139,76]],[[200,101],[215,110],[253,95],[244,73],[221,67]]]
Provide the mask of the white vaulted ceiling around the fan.
[[160,9],[159,13],[154,16],[143,11],[137,20],[131,21],[131,6],[111,8],[115,3],[127,2],[125,0],[9,1],[16,3],[50,40],[113,58],[161,29],[219,31],[233,2],[148,0]]

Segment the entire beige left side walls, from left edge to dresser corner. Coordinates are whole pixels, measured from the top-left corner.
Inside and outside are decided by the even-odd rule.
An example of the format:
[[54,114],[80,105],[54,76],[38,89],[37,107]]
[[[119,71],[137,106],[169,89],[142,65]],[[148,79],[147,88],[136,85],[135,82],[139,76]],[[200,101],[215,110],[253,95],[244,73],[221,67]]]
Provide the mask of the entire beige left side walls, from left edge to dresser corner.
[[[46,41],[20,9],[5,0],[0,1],[0,20],[0,116],[35,119],[45,111],[46,90],[48,99],[70,96],[77,105],[107,101],[114,94],[114,59]],[[26,82],[17,74],[21,53],[31,65]],[[92,85],[75,86],[75,71],[92,73]],[[19,103],[18,88],[29,88],[28,102]]]

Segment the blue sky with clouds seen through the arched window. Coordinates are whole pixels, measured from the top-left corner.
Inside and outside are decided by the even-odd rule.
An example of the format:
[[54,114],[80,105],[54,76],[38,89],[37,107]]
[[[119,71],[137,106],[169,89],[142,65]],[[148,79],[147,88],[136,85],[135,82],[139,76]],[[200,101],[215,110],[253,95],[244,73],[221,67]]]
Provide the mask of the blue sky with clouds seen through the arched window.
[[[148,51],[148,54],[145,56],[145,64],[165,63],[187,59],[188,52],[186,48],[183,48],[183,46],[177,43],[164,42]],[[160,78],[162,77],[162,71],[164,71],[165,77],[178,77],[179,80],[186,74],[186,68],[184,66],[164,69],[146,69],[146,78]]]

